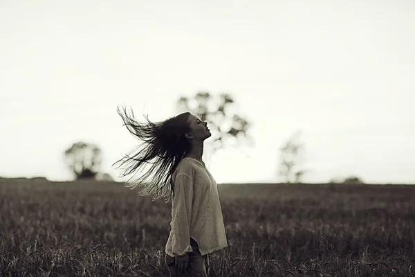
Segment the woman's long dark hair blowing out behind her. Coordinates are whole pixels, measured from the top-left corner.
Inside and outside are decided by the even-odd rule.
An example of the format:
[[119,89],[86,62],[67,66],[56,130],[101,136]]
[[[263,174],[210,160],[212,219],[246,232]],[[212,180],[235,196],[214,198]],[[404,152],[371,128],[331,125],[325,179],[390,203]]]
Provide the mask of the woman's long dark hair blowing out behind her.
[[[143,142],[129,154],[124,154],[124,157],[113,166],[118,164],[117,168],[126,167],[121,174],[122,177],[133,174],[125,184],[128,188],[138,189],[140,195],[151,195],[153,200],[163,198],[168,202],[174,194],[172,174],[185,154],[190,151],[190,141],[185,138],[185,133],[190,131],[187,123],[190,112],[156,123],[152,123],[148,116],[145,116],[147,124],[140,124],[134,119],[132,109],[131,115],[127,114],[125,107],[122,107],[122,110],[117,107],[117,111],[124,122],[123,125]],[[148,165],[151,167],[144,175],[129,182]]]

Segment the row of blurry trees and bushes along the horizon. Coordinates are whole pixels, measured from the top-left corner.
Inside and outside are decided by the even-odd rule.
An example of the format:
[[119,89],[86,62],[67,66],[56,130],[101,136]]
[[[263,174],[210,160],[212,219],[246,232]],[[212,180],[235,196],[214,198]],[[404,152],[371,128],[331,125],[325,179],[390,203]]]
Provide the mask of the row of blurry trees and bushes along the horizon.
[[[190,111],[206,121],[212,133],[212,139],[206,141],[205,161],[208,163],[220,149],[232,145],[253,146],[255,141],[249,130],[252,122],[249,118],[232,109],[235,100],[229,93],[212,95],[209,92],[198,92],[192,97],[181,96],[176,101],[178,113]],[[304,167],[305,145],[300,139],[301,132],[292,134],[279,148],[278,176],[286,183],[301,183],[308,169]],[[94,143],[77,141],[64,151],[68,169],[74,179],[95,179],[98,181],[113,181],[109,173],[102,172],[102,150]],[[351,176],[345,179],[331,179],[331,183],[362,183],[359,177]]]

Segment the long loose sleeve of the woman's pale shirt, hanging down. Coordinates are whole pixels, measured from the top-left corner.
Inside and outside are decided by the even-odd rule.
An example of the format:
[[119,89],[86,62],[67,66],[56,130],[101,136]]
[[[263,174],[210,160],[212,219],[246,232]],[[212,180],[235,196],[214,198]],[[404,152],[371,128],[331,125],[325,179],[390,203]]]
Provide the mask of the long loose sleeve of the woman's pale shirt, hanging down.
[[193,179],[185,173],[179,173],[174,180],[174,199],[172,201],[172,222],[174,256],[183,256],[192,252],[190,247],[190,222],[192,218]]

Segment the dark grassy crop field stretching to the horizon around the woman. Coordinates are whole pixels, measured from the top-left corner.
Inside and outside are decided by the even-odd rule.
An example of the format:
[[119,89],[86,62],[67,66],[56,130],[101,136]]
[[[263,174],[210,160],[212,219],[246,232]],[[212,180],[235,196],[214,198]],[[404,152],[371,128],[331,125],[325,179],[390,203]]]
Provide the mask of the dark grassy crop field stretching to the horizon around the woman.
[[[415,186],[219,185],[210,276],[415,276]],[[0,181],[0,276],[165,276],[171,204],[116,183]]]

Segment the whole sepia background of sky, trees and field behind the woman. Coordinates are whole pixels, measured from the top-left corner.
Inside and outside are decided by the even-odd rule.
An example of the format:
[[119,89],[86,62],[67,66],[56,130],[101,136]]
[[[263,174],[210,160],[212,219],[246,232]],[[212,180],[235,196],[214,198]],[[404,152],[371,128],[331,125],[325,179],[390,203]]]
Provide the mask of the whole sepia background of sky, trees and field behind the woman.
[[119,107],[207,120],[208,276],[415,276],[414,1],[3,0],[0,34],[0,276],[167,276]]

